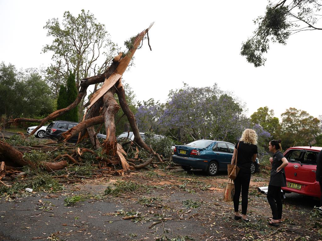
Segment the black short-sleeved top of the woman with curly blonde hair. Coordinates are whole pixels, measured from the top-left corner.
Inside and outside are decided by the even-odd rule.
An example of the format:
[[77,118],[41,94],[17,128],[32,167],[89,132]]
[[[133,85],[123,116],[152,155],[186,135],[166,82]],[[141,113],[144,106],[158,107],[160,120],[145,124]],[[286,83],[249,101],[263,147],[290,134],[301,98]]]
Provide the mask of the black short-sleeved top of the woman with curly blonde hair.
[[[238,143],[235,148],[237,149]],[[240,171],[244,173],[251,173],[251,162],[254,154],[257,154],[257,146],[253,144],[246,144],[243,141],[239,141],[237,154],[237,166]]]

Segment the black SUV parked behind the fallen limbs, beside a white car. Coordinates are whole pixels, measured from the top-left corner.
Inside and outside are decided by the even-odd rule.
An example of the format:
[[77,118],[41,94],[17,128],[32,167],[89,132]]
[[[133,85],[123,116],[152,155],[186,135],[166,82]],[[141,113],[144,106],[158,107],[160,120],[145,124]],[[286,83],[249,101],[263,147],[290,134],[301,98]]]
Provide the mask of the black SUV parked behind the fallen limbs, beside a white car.
[[[77,122],[71,121],[52,121],[46,128],[46,137],[50,139],[60,139],[62,133],[76,126]],[[76,143],[78,140],[78,135],[73,136],[69,139],[69,142]]]

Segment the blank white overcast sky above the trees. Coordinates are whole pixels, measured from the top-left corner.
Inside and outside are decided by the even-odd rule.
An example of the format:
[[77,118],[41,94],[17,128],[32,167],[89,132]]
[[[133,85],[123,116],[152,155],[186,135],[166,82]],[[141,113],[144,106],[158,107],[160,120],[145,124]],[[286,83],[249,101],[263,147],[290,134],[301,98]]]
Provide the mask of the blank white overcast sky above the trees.
[[[135,67],[123,75],[139,101],[166,102],[169,90],[217,83],[246,103],[250,116],[268,106],[275,116],[289,107],[317,117],[321,110],[322,31],[292,35],[286,46],[274,44],[264,67],[240,56],[242,42],[255,30],[267,0],[244,1],[14,1],[0,0],[0,62],[18,69],[46,67],[51,43],[43,29],[51,18],[62,20],[89,10],[105,24],[112,41],[123,42],[155,22],[147,42],[135,53]],[[320,22],[319,27],[322,27]]]

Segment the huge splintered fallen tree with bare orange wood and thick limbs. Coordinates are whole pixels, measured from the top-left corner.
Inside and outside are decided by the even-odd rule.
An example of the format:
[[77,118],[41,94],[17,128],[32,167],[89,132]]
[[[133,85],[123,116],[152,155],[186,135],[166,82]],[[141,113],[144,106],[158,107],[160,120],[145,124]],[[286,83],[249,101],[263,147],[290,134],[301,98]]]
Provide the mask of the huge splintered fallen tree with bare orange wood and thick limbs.
[[[148,146],[141,138],[139,130],[137,128],[134,114],[131,112],[126,102],[125,91],[121,83],[121,77],[127,69],[135,51],[140,48],[139,46],[144,39],[148,39],[148,31],[151,28],[151,26],[152,24],[149,26],[149,28],[137,34],[137,36],[131,38],[131,40],[128,42],[128,52],[126,54],[123,54],[121,52],[118,54],[118,56],[114,57],[111,65],[106,69],[106,71],[103,74],[83,79],[81,81],[80,90],[75,101],[71,103],[71,105],[69,105],[68,107],[52,112],[50,115],[48,115],[46,118],[42,120],[18,118],[5,123],[11,124],[19,122],[39,122],[39,125],[28,136],[31,137],[46,122],[55,120],[62,114],[75,108],[87,95],[87,88],[90,85],[103,83],[102,87],[91,96],[90,101],[86,104],[87,110],[84,114],[83,120],[75,127],[63,133],[63,139],[59,140],[58,144],[51,143],[49,144],[49,146],[43,144],[40,145],[40,147],[31,147],[38,148],[39,151],[48,151],[51,148],[60,148],[60,143],[65,143],[71,137],[78,134],[78,143],[89,138],[94,150],[102,148],[101,155],[98,155],[96,152],[88,148],[78,147],[78,151],[73,151],[72,154],[64,153],[59,156],[61,158],[53,158],[55,161],[60,159],[59,162],[44,161],[41,164],[38,163],[37,165],[43,166],[43,168],[48,172],[60,170],[69,165],[67,161],[71,162],[72,164],[80,164],[82,161],[81,152],[92,153],[94,155],[94,159],[96,159],[97,161],[104,162],[103,166],[106,166],[108,164],[115,165],[115,163],[117,162],[122,167],[121,170],[118,170],[119,173],[128,172],[128,170],[130,169],[134,170],[143,168],[149,165],[154,159],[157,159],[158,162],[163,161],[161,156],[158,153],[156,153],[151,146]],[[147,37],[145,37],[146,35]],[[118,104],[115,100],[115,94],[118,95],[120,104]],[[131,129],[135,136],[134,142],[128,144],[133,145],[133,143],[135,143],[136,146],[144,149],[150,155],[146,160],[143,160],[143,162],[142,159],[129,160],[127,157],[127,152],[124,151],[123,147],[118,144],[115,133],[116,129],[114,117],[116,112],[120,108],[122,108],[123,112],[127,116]],[[106,129],[106,139],[103,141],[103,143],[100,143],[96,137],[97,132],[95,131],[94,126],[103,123],[105,124]],[[56,146],[52,147],[52,145]],[[2,159],[5,160],[6,165],[13,165],[16,167],[34,165],[30,161],[26,161],[24,159],[23,152],[24,149],[21,149],[19,146],[13,147],[12,145],[4,141],[0,141],[0,154],[4,157]],[[139,161],[140,163],[135,164],[135,161]],[[101,163],[97,165],[101,166]]]

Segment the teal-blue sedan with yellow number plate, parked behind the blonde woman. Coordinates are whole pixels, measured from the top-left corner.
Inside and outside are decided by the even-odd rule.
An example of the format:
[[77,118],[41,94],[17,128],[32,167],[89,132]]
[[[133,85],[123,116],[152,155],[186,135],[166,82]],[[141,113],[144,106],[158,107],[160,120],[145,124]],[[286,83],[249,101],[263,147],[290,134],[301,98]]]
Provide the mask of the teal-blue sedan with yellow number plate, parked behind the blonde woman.
[[[196,140],[189,144],[176,145],[172,160],[186,171],[202,169],[210,176],[218,171],[227,171],[231,164],[235,145],[225,141]],[[251,164],[251,173],[258,170],[259,160]]]

